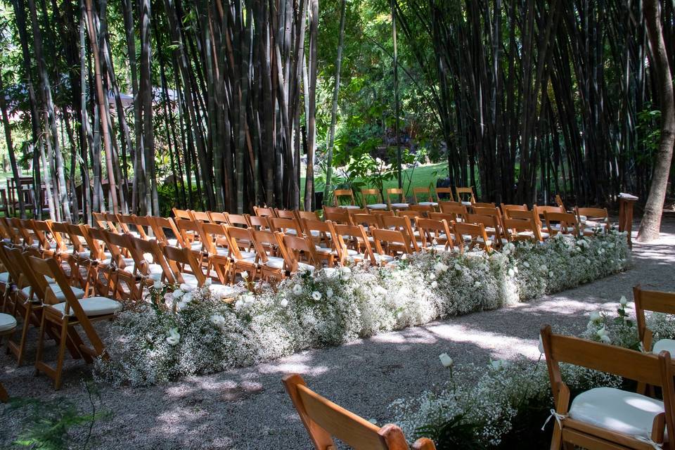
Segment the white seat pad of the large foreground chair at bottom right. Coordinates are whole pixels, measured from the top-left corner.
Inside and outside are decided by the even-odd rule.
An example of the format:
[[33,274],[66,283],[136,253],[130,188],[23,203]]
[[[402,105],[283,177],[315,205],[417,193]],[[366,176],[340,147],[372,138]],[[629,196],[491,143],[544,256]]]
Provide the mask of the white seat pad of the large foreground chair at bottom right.
[[574,398],[569,416],[633,437],[647,435],[655,416],[662,412],[662,401],[613,387],[596,387]]

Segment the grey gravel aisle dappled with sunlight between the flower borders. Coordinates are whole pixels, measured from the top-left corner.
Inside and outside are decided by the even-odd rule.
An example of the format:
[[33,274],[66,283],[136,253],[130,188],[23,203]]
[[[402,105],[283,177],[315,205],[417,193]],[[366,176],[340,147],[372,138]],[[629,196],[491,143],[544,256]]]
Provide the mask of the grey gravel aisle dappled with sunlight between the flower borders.
[[[631,270],[558,295],[426,326],[385,333],[341,347],[316,349],[269,364],[189,378],[149,388],[101,386],[101,403],[111,416],[96,423],[89,448],[95,449],[309,449],[307,434],[288,399],[281,377],[297,372],[310,387],[365,418],[385,423],[387,405],[416,396],[446,380],[438,355],[447,352],[458,364],[487,364],[489,359],[536,359],[541,324],[554,330],[581,331],[596,309],[611,311],[631,287],[675,290],[675,221],[664,219],[662,238],[634,245]],[[32,357],[31,353],[29,357]],[[28,359],[30,361],[30,359]],[[49,379],[32,376],[32,368],[15,368],[0,354],[0,375],[13,396],[67,397],[89,405],[79,381],[89,368],[70,361],[64,387],[53,392]],[[99,405],[100,406],[100,405]],[[4,407],[0,406],[0,412]],[[0,448],[17,432],[13,416],[0,416]],[[82,448],[82,435],[72,439]]]

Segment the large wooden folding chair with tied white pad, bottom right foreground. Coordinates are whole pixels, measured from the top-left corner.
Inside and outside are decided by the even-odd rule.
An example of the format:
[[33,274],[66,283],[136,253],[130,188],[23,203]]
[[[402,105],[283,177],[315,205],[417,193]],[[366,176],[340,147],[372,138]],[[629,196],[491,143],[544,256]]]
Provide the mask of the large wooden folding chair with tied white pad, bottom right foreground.
[[[668,352],[658,356],[556,335],[551,326],[541,328],[555,411],[552,411],[551,449],[574,446],[589,450],[673,449],[664,435],[675,432],[673,363]],[[570,404],[570,388],[560,373],[560,363],[612,373],[629,380],[662,387],[663,401],[613,387],[581,392]]]

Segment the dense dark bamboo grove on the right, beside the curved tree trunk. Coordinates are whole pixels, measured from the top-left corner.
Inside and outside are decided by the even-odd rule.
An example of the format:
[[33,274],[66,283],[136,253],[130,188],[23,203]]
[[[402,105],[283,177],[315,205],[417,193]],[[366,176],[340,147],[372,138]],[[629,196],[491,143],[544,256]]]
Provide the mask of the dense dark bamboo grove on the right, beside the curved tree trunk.
[[[675,4],[661,3],[673,49]],[[641,0],[400,1],[401,32],[449,144],[451,183],[507,203],[547,203],[561,192],[580,204],[606,204],[619,191],[646,196],[653,159],[639,122],[658,110],[659,95],[642,8]],[[675,68],[675,51],[669,57]]]

